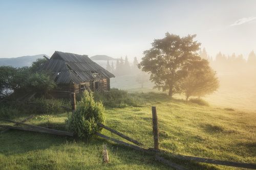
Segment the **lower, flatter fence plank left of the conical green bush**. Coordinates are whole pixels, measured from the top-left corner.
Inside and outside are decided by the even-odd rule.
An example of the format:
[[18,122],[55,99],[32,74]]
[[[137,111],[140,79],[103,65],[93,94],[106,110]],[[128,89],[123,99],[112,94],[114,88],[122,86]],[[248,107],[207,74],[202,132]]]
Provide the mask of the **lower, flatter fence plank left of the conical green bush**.
[[[54,134],[54,135],[60,135],[60,136],[73,136],[73,133],[70,133],[70,132],[60,134],[60,133],[56,133],[54,131],[41,130],[41,129],[28,128],[28,127],[20,127],[20,126],[0,125],[0,127],[1,128],[8,128],[8,129],[23,130],[23,131],[31,131],[31,132],[48,133],[48,134]],[[52,130],[52,129],[49,129],[49,130]]]

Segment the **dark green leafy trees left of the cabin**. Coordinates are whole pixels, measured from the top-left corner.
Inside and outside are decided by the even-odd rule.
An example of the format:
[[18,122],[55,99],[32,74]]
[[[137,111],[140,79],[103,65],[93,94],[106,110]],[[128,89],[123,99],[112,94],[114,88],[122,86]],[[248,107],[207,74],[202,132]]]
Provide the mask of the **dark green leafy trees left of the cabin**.
[[37,92],[43,95],[55,88],[50,74],[38,71],[44,63],[45,60],[37,60],[31,67],[0,66],[0,97],[5,96],[6,91]]

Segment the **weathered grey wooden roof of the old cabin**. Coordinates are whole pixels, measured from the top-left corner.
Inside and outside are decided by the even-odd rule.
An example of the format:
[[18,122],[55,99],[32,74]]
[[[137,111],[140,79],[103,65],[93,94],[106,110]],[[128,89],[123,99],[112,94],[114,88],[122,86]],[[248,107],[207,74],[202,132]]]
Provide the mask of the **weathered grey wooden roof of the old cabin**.
[[115,77],[111,72],[92,61],[87,55],[57,52],[42,66],[51,71],[57,84],[88,82]]

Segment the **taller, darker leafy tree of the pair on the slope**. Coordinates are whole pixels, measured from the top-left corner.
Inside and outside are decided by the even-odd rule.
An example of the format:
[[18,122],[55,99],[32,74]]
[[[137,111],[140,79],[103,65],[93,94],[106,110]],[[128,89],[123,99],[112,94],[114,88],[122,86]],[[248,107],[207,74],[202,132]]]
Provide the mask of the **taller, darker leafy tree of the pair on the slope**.
[[150,50],[144,51],[139,63],[143,71],[150,72],[155,88],[169,90],[169,95],[180,92],[181,80],[186,77],[186,63],[198,57],[200,43],[196,35],[180,37],[166,33],[163,39],[155,39]]

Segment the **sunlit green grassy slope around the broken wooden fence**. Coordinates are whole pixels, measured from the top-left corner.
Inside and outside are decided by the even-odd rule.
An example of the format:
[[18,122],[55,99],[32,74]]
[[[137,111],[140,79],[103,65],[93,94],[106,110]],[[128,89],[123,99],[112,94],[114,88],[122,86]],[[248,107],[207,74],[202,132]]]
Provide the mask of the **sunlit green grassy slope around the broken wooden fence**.
[[[151,106],[154,105],[158,109],[161,149],[214,159],[256,162],[255,113],[171,101],[162,94],[140,96],[146,102],[142,107],[106,109],[105,124],[152,147]],[[66,116],[66,113],[36,116],[29,123],[63,125]],[[102,133],[116,137],[106,131]],[[9,131],[0,136],[0,141],[0,169],[169,169],[151,156],[100,138],[79,141]],[[108,144],[109,164],[102,164],[103,143]],[[236,169],[182,163],[192,169]]]

